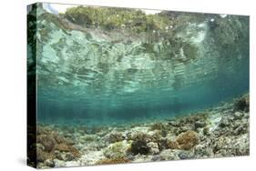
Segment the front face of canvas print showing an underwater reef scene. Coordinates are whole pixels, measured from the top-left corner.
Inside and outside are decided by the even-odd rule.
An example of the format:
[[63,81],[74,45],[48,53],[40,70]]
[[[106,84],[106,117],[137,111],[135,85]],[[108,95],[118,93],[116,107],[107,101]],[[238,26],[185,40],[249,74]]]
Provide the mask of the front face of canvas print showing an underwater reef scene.
[[29,10],[37,167],[249,154],[249,16]]

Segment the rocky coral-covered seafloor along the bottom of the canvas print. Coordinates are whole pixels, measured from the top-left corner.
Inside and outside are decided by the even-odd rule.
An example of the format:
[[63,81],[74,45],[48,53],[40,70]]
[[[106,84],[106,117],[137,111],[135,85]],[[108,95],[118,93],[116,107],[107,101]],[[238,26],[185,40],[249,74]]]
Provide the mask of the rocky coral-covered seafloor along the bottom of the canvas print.
[[248,156],[249,94],[207,110],[130,126],[37,127],[38,168]]

